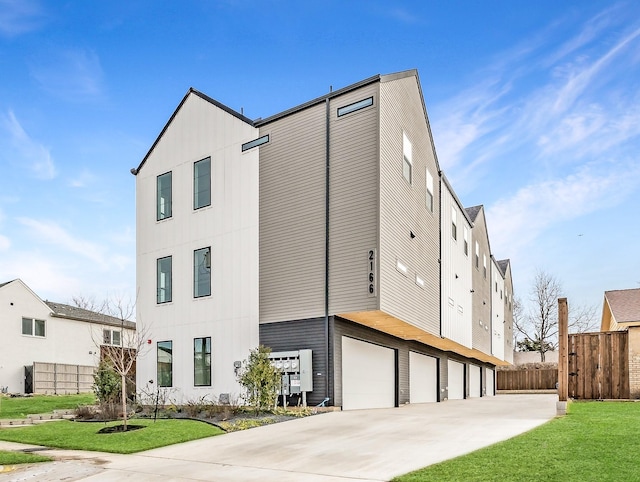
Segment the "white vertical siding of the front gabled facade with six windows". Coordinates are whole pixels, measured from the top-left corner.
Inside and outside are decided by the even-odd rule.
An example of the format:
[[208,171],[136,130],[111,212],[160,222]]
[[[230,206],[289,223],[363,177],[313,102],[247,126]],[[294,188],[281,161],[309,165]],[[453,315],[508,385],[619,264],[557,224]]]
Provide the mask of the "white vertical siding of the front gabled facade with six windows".
[[[258,130],[190,94],[136,177],[137,321],[152,345],[138,383],[173,342],[175,397],[239,393],[233,362],[258,344]],[[211,157],[211,206],[193,209],[193,163]],[[172,171],[172,217],[156,221],[156,176]],[[211,296],[193,297],[193,252],[211,247]],[[172,301],[156,303],[156,259],[172,256]],[[212,386],[193,385],[193,339],[211,337]]]

